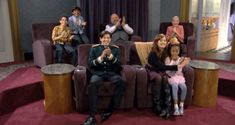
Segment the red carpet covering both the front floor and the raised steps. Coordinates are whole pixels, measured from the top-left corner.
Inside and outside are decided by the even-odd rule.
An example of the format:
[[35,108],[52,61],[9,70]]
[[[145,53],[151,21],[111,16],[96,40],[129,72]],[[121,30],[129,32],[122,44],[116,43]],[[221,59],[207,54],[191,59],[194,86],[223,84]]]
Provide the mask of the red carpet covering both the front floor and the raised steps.
[[[226,74],[227,73],[227,74]],[[221,85],[234,85],[233,79],[226,84],[225,78],[234,78],[230,72],[220,71]],[[232,82],[231,82],[232,81]],[[76,112],[66,115],[50,115],[44,112],[42,77],[36,67],[16,70],[0,82],[0,125],[79,125],[87,115]],[[233,86],[227,91],[234,95]],[[224,89],[221,89],[224,92]],[[220,92],[220,91],[219,91]],[[40,100],[40,101],[39,101]],[[97,116],[99,121],[99,116]],[[100,124],[100,122],[99,122]],[[220,96],[214,108],[190,106],[185,116],[163,120],[150,109],[119,110],[103,125],[235,125],[235,100]]]

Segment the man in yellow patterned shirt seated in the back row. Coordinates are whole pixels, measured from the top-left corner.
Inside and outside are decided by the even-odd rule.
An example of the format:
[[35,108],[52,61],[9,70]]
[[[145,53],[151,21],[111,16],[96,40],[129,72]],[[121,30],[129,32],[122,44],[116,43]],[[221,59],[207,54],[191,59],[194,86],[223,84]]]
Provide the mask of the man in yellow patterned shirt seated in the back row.
[[76,50],[71,46],[72,38],[71,30],[67,26],[68,17],[62,16],[60,18],[60,25],[55,26],[52,31],[52,40],[56,49],[56,63],[62,63],[62,57],[64,50],[72,55],[72,64],[77,64],[77,53]]

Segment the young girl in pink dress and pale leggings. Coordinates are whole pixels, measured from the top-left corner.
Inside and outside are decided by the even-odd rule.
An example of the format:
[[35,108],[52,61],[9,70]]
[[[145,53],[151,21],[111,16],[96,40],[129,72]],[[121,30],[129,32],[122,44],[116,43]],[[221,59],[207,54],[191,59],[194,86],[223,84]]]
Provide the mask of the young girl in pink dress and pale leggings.
[[[180,65],[185,59],[179,56],[180,45],[169,44],[169,57],[166,58],[166,65]],[[185,85],[185,78],[182,73],[182,67],[178,67],[177,71],[166,71],[169,75],[168,82],[172,87],[173,100],[174,100],[174,113],[173,115],[184,114],[184,100],[186,96],[187,87]],[[181,89],[180,101],[178,106],[178,88]]]

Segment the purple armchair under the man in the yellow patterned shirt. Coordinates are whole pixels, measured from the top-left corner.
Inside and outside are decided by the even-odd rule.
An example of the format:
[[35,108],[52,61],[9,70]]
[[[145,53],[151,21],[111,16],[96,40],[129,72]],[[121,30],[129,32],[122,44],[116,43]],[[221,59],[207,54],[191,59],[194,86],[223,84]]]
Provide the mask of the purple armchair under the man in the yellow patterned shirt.
[[32,25],[34,64],[43,67],[53,62],[51,34],[58,23],[38,23]]

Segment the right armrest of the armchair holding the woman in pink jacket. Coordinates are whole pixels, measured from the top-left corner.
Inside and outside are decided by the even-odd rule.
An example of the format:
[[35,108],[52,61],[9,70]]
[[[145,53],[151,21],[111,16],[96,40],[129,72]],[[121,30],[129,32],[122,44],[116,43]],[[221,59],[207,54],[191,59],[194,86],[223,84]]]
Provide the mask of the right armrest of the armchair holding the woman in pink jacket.
[[187,55],[191,59],[195,58],[195,51],[196,51],[196,39],[194,36],[189,36],[188,37],[188,42],[187,42]]

